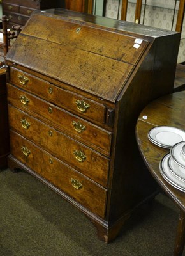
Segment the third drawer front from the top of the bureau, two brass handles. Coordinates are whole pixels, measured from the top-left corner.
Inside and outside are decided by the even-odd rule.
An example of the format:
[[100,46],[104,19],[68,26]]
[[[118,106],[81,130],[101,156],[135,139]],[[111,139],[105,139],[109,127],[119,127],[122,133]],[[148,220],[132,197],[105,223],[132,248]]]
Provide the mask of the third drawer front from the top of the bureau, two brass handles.
[[[71,140],[56,129],[9,105],[10,128],[70,164],[78,172],[107,186],[109,159]],[[97,168],[98,166],[98,168]]]

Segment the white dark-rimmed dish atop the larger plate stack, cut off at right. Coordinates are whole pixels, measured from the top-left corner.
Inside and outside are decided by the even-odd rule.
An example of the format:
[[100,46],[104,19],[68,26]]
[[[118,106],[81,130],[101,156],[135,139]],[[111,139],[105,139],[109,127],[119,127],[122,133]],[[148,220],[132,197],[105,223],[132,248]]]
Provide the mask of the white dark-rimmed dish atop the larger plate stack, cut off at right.
[[185,168],[185,156],[182,154],[182,147],[185,145],[185,141],[175,144],[170,149],[170,154],[174,161],[181,167]]

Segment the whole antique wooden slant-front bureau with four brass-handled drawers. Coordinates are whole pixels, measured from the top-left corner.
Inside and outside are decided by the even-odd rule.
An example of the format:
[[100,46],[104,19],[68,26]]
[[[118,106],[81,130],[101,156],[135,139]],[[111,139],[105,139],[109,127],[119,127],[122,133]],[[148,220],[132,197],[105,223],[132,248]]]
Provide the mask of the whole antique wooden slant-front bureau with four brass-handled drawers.
[[6,55],[8,166],[84,212],[106,243],[156,194],[135,124],[147,103],[173,91],[179,40],[171,31],[54,9],[33,13]]

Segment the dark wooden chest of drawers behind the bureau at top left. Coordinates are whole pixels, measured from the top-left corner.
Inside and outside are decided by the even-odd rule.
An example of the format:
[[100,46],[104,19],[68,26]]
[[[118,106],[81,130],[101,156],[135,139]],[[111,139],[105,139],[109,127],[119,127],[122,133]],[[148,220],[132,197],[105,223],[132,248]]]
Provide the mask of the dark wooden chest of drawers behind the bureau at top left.
[[24,26],[34,10],[64,7],[60,0],[3,0],[3,15],[8,18],[8,28],[13,25]]

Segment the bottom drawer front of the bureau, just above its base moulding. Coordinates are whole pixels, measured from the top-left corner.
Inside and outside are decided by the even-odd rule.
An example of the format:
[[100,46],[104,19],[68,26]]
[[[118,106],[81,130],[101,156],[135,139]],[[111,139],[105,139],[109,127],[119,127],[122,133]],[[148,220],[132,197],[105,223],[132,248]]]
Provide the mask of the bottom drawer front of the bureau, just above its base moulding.
[[86,179],[84,175],[15,132],[10,132],[10,141],[11,154],[21,163],[101,218],[105,216],[107,189]]

